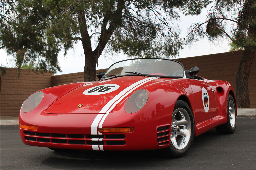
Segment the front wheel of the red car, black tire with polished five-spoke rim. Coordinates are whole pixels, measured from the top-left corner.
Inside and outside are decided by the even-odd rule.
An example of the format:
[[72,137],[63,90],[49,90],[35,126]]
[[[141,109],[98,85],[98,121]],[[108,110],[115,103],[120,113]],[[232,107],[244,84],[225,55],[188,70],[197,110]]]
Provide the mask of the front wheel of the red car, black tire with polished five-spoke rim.
[[[179,122],[179,120],[182,119],[182,116],[183,119],[186,120],[185,122]],[[170,128],[170,146],[162,150],[168,157],[182,157],[189,151],[195,136],[194,117],[186,102],[177,100],[175,103]],[[189,134],[190,136],[185,136],[184,134]]]

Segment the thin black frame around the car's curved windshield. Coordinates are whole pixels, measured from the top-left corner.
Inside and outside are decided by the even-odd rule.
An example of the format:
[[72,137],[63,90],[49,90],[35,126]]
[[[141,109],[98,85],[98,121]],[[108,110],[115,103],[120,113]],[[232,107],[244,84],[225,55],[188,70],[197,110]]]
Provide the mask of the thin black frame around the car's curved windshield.
[[[185,68],[183,66],[182,63],[176,61],[176,60],[172,60],[172,59],[166,59],[166,58],[131,58],[131,59],[127,59],[127,60],[122,60],[122,61],[118,61],[118,62],[115,62],[114,64],[117,64],[117,63],[120,63],[120,62],[123,62],[123,61],[128,61],[128,60],[139,60],[139,59],[157,59],[157,60],[169,60],[169,61],[174,61],[174,62],[177,62],[179,63],[181,66],[182,66],[182,69],[183,69],[183,76],[163,76],[163,75],[150,75],[150,74],[144,74],[144,76],[147,76],[147,77],[160,77],[160,78],[170,78],[170,79],[177,79],[177,78],[186,78],[186,75],[185,75]],[[112,64],[108,70],[114,65]],[[105,74],[108,72],[108,70],[106,70]],[[143,75],[138,75],[138,74],[123,74],[123,75],[117,75],[116,77],[104,77],[105,74],[102,76],[101,80],[108,80],[108,79],[112,79],[112,78],[116,78],[116,77],[123,77],[123,76],[143,76]],[[100,80],[100,81],[101,81]]]

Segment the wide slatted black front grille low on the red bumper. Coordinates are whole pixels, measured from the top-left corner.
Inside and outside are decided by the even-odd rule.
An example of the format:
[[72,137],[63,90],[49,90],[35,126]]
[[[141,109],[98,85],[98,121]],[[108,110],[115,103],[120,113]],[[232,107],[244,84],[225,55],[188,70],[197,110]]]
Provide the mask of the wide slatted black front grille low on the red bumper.
[[60,143],[67,145],[125,145],[125,135],[83,135],[24,131],[25,139],[34,142]]

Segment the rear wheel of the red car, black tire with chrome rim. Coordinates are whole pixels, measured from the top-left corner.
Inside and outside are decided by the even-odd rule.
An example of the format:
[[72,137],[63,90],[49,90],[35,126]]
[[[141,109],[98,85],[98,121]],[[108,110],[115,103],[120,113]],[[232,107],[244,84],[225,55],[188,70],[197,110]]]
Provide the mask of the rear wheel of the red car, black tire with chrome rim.
[[227,123],[217,126],[215,129],[220,134],[232,134],[236,130],[236,107],[234,99],[228,95],[227,99]]

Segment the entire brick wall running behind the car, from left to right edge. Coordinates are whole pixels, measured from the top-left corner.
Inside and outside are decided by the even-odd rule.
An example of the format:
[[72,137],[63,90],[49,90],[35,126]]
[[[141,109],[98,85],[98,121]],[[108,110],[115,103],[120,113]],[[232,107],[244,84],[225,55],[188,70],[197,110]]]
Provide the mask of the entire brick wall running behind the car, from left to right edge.
[[[232,84],[236,91],[236,74],[243,50],[218,53],[197,57],[175,59],[181,62],[186,70],[198,66],[197,75],[209,80],[224,80]],[[107,69],[96,70],[106,72]],[[17,69],[8,68],[5,75],[1,74],[1,116],[17,116],[24,100],[35,91],[68,83],[83,82],[83,72],[52,76],[51,74],[29,73],[22,69],[18,78]],[[98,78],[96,77],[96,81]],[[256,108],[256,59],[254,58],[249,75],[250,105]]]

